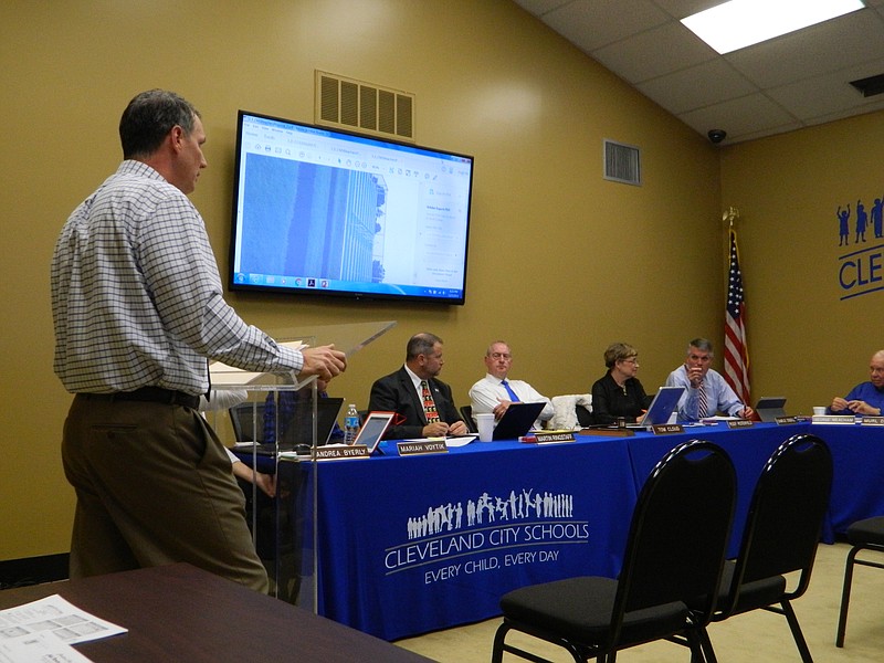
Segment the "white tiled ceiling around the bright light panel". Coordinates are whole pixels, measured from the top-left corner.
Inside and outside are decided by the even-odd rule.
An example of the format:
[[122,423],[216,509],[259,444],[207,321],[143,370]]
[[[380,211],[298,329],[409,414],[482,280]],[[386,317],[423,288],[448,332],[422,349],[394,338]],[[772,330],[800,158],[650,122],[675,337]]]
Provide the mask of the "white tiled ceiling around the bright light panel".
[[884,108],[849,84],[884,73],[884,0],[727,55],[680,22],[723,0],[514,1],[723,145]]

